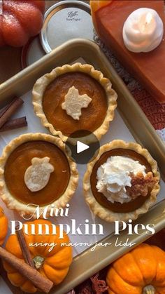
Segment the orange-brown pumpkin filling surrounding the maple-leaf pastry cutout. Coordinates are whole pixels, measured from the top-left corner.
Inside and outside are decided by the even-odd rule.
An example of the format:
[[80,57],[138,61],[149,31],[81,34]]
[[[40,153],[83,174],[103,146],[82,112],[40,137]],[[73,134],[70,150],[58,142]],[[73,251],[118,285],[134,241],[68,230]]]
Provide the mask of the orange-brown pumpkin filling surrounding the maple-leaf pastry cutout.
[[[80,95],[87,94],[92,99],[87,108],[81,109],[79,120],[73,119],[62,108],[65,96],[73,86],[78,89]],[[101,84],[82,72],[68,72],[57,76],[47,86],[43,95],[43,112],[49,123],[67,136],[80,130],[96,131],[103,123],[107,109],[106,92]]]

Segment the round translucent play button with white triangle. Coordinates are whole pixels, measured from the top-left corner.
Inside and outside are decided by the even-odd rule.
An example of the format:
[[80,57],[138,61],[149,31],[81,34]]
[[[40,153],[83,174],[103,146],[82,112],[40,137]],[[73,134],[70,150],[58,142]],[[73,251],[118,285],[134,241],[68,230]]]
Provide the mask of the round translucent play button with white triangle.
[[66,141],[66,152],[69,149],[70,156],[76,163],[86,164],[99,152],[99,140],[94,133],[89,131],[76,131]]

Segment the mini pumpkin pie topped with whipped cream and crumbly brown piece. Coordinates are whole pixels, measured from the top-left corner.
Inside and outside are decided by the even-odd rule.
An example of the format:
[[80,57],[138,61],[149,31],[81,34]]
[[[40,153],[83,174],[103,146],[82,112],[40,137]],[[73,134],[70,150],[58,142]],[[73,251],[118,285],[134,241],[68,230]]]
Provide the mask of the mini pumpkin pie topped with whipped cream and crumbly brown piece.
[[157,199],[157,162],[141,145],[114,140],[88,163],[83,187],[95,215],[108,222],[135,220]]

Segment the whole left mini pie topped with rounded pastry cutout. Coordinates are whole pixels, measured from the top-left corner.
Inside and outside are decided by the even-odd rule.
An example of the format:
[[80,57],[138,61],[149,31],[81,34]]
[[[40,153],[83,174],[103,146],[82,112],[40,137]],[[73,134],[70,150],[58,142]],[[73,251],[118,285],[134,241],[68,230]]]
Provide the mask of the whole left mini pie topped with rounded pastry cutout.
[[34,214],[36,206],[40,211],[48,206],[48,212],[52,205],[64,208],[77,185],[76,163],[66,154],[59,138],[29,133],[3,149],[0,195],[6,206],[20,215]]

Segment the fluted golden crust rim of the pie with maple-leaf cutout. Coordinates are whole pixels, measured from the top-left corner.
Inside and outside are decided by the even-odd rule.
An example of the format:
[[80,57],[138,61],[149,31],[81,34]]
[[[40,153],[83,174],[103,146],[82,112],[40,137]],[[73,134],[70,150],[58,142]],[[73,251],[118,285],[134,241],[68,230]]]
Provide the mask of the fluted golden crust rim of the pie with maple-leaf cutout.
[[[41,76],[41,78],[39,78],[34,84],[32,90],[32,103],[34,105],[34,112],[36,113],[36,116],[41,119],[41,123],[43,124],[43,126],[45,126],[45,128],[48,128],[52,135],[58,135],[59,138],[66,142],[68,137],[66,135],[63,135],[61,131],[56,131],[54,126],[52,126],[52,124],[48,122],[48,119],[43,112],[42,100],[45,88],[53,80],[55,80],[57,76],[66,74],[67,72],[83,72],[85,74],[89,74],[89,76],[92,76],[94,79],[96,79],[96,81],[98,81],[106,91],[108,100],[106,117],[101,126],[99,126],[99,128],[97,128],[96,131],[93,132],[94,135],[96,135],[96,138],[98,138],[99,140],[101,136],[108,131],[110,121],[113,121],[115,108],[117,107],[117,93],[113,90],[110,80],[103,77],[103,74],[100,71],[94,69],[92,65],[82,65],[79,62],[73,65],[63,65],[62,67],[56,67],[55,69],[52,69],[52,72],[50,72],[50,74],[45,74],[44,76]],[[88,141],[86,142],[88,143]]]

